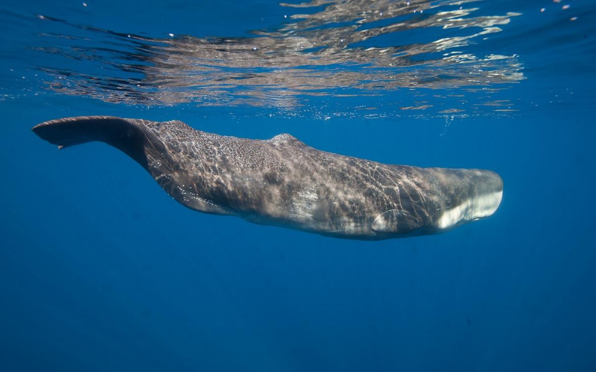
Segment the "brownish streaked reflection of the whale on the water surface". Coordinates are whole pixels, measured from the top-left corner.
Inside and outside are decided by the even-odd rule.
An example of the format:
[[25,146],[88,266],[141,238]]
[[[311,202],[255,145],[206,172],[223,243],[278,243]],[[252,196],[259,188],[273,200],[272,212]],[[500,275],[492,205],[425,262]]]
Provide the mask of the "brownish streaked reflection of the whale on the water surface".
[[[91,36],[45,34],[55,42],[39,49],[108,68],[101,73],[39,68],[53,77],[48,86],[54,91],[116,103],[293,108],[312,95],[385,95],[405,88],[434,99],[455,89],[461,104],[467,103],[467,94],[507,88],[524,79],[517,55],[468,50],[521,14],[480,15],[474,4],[479,1],[282,3],[297,13],[278,27],[253,31],[250,38],[153,39],[70,25]],[[503,105],[511,109],[511,103]],[[423,102],[400,108],[429,107]]]

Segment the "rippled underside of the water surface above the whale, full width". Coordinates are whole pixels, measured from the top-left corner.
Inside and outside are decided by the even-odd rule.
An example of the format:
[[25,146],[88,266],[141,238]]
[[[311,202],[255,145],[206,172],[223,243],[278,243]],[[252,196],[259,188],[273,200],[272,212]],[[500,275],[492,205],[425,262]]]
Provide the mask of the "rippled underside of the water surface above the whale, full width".
[[[56,94],[111,103],[248,105],[305,116],[354,115],[359,97],[374,103],[356,105],[362,115],[381,117],[581,107],[591,102],[570,91],[576,89],[572,82],[556,86],[549,80],[553,74],[574,80],[586,72],[593,78],[588,35],[595,30],[595,7],[588,1],[565,6],[257,2],[244,14],[235,4],[215,11],[210,3],[181,3],[159,8],[156,17],[143,14],[156,5],[135,10],[135,4],[72,4],[29,12],[13,5],[3,11],[10,22],[2,49],[15,64],[5,60],[11,68],[3,73],[36,80]],[[246,29],[238,29],[238,18]],[[214,23],[218,27],[210,27]],[[24,35],[11,35],[15,31]],[[526,85],[541,91],[523,94],[519,85],[526,79],[536,80]],[[542,91],[554,88],[554,94]]]

